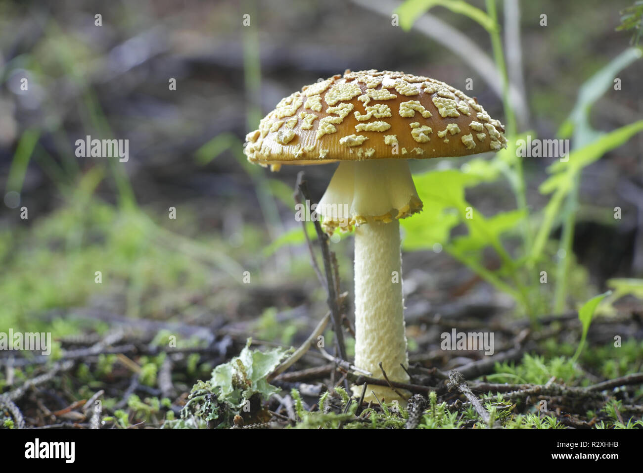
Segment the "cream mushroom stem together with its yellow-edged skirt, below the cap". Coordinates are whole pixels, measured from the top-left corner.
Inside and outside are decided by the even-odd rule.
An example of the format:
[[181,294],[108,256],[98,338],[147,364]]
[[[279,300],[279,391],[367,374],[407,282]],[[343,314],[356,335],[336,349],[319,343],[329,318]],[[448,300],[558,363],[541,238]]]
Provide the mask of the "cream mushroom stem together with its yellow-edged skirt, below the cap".
[[[355,366],[408,382],[399,218],[422,208],[404,159],[341,162],[318,210],[327,231],[356,225]],[[361,394],[361,386],[352,387]],[[365,399],[404,402],[405,391],[369,385]],[[402,394],[402,395],[400,395]]]

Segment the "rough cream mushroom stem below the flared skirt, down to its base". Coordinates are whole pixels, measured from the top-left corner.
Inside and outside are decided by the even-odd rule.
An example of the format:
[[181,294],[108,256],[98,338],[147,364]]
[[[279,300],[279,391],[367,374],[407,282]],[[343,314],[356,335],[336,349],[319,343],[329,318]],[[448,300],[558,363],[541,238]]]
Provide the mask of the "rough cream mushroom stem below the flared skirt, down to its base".
[[[355,229],[355,366],[391,381],[408,382],[404,335],[402,258],[399,220],[373,222]],[[355,394],[361,394],[355,386]],[[369,385],[365,399],[403,401],[390,387]],[[398,391],[402,391],[399,390]]]

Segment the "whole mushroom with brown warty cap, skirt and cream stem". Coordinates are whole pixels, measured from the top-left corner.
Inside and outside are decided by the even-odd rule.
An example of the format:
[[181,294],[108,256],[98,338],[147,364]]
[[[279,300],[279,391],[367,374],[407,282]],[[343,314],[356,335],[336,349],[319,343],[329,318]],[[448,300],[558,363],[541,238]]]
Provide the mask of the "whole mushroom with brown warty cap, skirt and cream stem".
[[[504,128],[475,98],[428,77],[345,71],[282,99],[246,136],[249,162],[339,162],[318,212],[323,228],[355,228],[355,366],[408,382],[399,219],[422,210],[408,159],[506,147]],[[354,394],[361,387],[352,387]],[[365,400],[408,392],[369,385]]]

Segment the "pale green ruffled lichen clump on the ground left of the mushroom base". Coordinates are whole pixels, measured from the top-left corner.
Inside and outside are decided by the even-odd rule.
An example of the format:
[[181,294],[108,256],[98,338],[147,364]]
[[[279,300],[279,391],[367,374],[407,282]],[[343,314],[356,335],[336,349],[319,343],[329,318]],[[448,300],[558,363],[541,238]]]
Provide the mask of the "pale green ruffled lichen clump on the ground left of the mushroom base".
[[167,420],[163,429],[224,429],[236,415],[249,413],[251,400],[267,400],[279,389],[266,380],[291,350],[273,348],[265,352],[250,349],[248,342],[238,357],[215,367],[212,378],[199,381],[181,410],[181,418]]

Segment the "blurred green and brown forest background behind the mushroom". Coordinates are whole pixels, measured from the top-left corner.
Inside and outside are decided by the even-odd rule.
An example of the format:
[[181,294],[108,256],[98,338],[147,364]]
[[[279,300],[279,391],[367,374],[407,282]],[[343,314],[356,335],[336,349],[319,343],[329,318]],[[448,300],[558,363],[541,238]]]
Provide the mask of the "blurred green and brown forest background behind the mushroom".
[[[167,329],[225,336],[237,344],[228,353],[248,335],[305,339],[327,307],[294,220],[302,168],[249,165],[244,136],[303,85],[370,68],[448,82],[510,142],[569,138],[581,163],[520,162],[514,149],[412,163],[421,196],[451,171],[494,234],[476,240],[426,198],[426,216],[405,222],[412,359],[435,348],[437,317],[536,320],[608,288],[619,297],[605,313],[640,317],[643,61],[633,31],[617,30],[631,1],[469,5],[422,15],[421,1],[395,0],[0,2],[0,330],[51,331],[65,347],[117,326]],[[78,158],[87,135],[129,140],[129,160]],[[305,168],[314,200],[335,167]],[[352,238],[331,250],[350,319]]]

